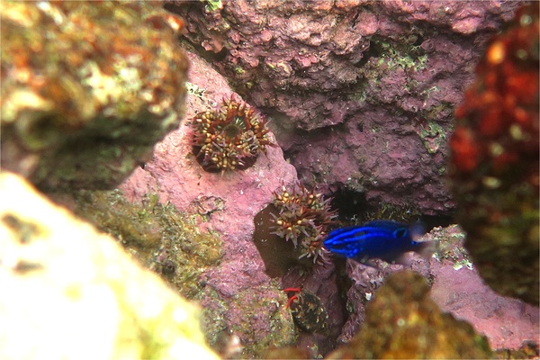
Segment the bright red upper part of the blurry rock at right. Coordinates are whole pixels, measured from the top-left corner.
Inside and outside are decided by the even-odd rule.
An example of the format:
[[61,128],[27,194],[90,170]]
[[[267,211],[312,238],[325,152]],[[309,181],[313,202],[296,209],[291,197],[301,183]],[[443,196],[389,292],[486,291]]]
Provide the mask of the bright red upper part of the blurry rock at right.
[[477,80],[455,112],[450,147],[457,172],[487,162],[500,173],[522,156],[537,154],[538,31],[534,4],[518,12],[504,36],[491,40]]

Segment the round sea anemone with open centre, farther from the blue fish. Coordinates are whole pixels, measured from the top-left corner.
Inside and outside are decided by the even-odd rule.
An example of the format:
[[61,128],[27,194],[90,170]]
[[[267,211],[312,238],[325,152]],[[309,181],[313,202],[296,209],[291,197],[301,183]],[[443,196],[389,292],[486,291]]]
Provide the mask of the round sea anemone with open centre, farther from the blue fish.
[[215,110],[197,113],[192,121],[193,155],[204,170],[217,173],[244,170],[274,144],[266,121],[231,95]]

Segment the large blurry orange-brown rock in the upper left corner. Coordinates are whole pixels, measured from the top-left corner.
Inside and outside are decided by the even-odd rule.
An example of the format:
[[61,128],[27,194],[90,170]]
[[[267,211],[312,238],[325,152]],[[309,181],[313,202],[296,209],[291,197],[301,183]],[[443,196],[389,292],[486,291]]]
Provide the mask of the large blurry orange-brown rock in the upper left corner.
[[3,2],[0,15],[4,169],[49,192],[112,188],[182,119],[182,20],[158,4]]

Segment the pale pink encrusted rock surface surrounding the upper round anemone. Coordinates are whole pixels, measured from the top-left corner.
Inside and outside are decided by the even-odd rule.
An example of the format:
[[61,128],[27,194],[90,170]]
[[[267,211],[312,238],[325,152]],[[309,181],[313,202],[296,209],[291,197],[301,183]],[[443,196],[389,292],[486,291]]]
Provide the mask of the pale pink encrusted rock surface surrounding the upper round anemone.
[[[190,94],[186,118],[230,98],[224,77],[206,61],[188,53]],[[272,139],[274,136],[268,134]],[[206,172],[193,156],[193,129],[184,124],[157,143],[154,157],[122,185],[131,200],[157,193],[178,211],[201,215],[201,231],[219,234],[220,265],[204,271],[200,302],[205,332],[223,356],[238,341],[242,357],[260,357],[267,347],[291,344],[293,320],[284,308],[285,293],[265,273],[265,264],[253,242],[254,217],[273,200],[273,192],[296,181],[294,167],[279,147],[268,147],[246,170]],[[235,356],[238,356],[236,354]]]

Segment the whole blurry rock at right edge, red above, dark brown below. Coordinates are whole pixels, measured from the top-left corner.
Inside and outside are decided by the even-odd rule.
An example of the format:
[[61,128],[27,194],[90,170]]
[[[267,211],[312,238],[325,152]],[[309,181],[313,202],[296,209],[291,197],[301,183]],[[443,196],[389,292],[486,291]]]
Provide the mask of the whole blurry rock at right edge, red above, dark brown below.
[[458,220],[497,292],[538,304],[538,3],[493,38],[450,139]]

